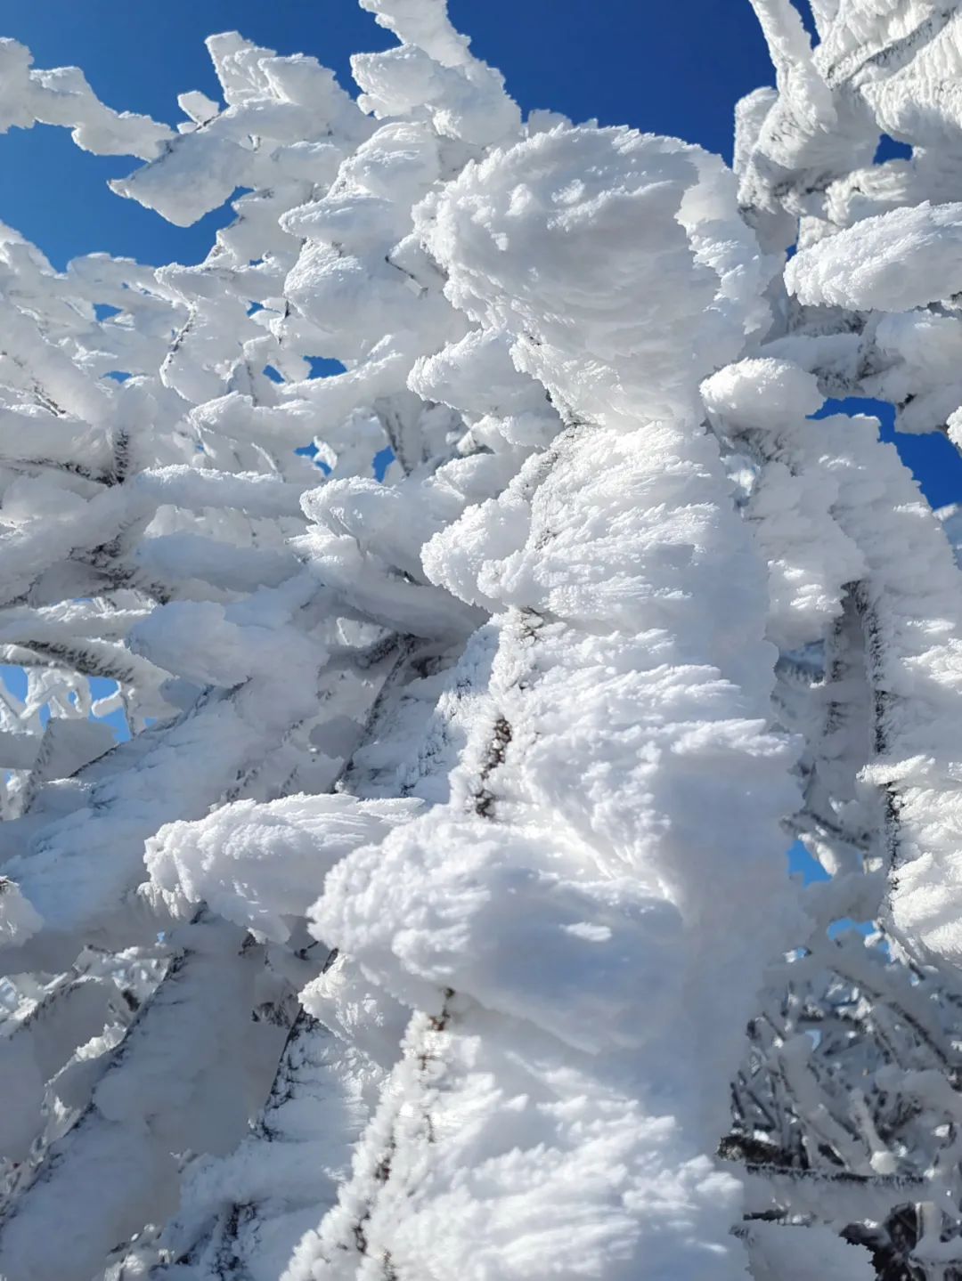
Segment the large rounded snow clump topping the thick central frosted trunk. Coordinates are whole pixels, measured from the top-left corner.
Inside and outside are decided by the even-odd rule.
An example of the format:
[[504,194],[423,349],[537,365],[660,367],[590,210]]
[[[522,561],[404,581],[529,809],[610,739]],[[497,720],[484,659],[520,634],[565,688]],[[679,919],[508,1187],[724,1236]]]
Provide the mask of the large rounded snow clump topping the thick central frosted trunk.
[[[703,228],[713,241],[724,236],[713,225],[724,183],[715,164],[697,147],[630,129],[558,127],[466,167],[420,208],[418,225],[450,264],[448,297],[485,328],[507,329],[518,366],[562,405],[578,378],[588,416],[629,404],[651,418],[693,412],[693,383],[738,354],[744,313],[752,322],[760,314],[747,281],[765,269],[730,214],[734,261],[720,263],[720,274],[693,263],[693,242],[698,259],[708,257]],[[737,274],[747,278],[742,314],[726,296]],[[614,404],[608,363],[626,379]]]

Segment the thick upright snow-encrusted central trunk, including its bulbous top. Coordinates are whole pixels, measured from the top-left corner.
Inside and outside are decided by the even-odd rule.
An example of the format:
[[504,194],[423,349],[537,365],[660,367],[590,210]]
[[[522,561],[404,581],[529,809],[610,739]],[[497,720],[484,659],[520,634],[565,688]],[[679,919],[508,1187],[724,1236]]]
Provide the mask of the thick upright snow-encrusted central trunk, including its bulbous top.
[[[758,309],[725,297],[724,256],[675,220],[685,208],[702,232],[698,200],[683,205],[701,179],[689,155],[625,131],[556,131],[469,168],[418,215],[452,301],[505,332],[514,361],[580,425],[523,457],[501,496],[425,546],[433,582],[497,612],[491,676],[477,707],[451,706],[469,720],[446,803],[338,863],[313,912],[318,936],[423,1013],[352,1184],[316,1241],[302,1243],[292,1278],[319,1276],[336,1246],[350,1250],[359,1198],[365,1253],[389,1254],[402,1273],[415,1259],[437,1271],[452,1258],[471,1275],[633,1276],[644,1258],[652,1276],[667,1276],[669,1259],[684,1271],[708,1257],[712,1275],[740,1271],[719,1231],[735,1186],[697,1155],[724,1098],[712,1102],[693,1053],[679,1070],[664,1047],[684,1043],[693,1018],[706,1062],[735,1053],[742,1018],[730,1004],[719,1017],[717,989],[697,974],[751,990],[743,975],[760,958],[740,935],[738,956],[729,949],[734,922],[719,911],[720,898],[740,901],[742,877],[785,924],[778,813],[793,807],[793,752],[765,729],[765,584],[717,448],[693,430],[699,374],[712,351],[737,350],[735,323],[751,328]],[[593,196],[573,181],[584,172],[626,193]],[[599,236],[606,216],[612,228]],[[565,254],[579,236],[583,251]],[[678,273],[670,297],[656,245],[658,270]],[[537,277],[519,269],[535,252],[546,263]],[[757,255],[749,266],[762,275]],[[593,291],[596,278],[624,281],[623,295],[617,284]],[[628,300],[649,279],[661,310],[629,320]],[[673,324],[703,327],[701,369],[670,360]],[[575,342],[594,357],[582,357],[587,377]],[[498,350],[500,339],[461,341],[468,379],[475,352]],[[470,404],[475,384],[459,380],[450,348],[434,368],[415,377],[441,374],[444,398]],[[655,412],[671,418],[651,421]],[[478,675],[471,656],[452,692]],[[721,856],[708,816],[729,770],[744,788],[738,762],[748,758],[746,819],[731,817],[738,853]],[[412,787],[430,794],[427,778]],[[395,1111],[396,1094],[423,1100],[415,1117]],[[465,1112],[471,1125],[459,1132],[450,1118]],[[371,1170],[386,1145],[379,1186]],[[469,1171],[482,1153],[477,1181]],[[428,1180],[414,1175],[424,1163]],[[617,1182],[593,1181],[612,1167],[624,1171]],[[664,1221],[656,1184],[671,1205]]]

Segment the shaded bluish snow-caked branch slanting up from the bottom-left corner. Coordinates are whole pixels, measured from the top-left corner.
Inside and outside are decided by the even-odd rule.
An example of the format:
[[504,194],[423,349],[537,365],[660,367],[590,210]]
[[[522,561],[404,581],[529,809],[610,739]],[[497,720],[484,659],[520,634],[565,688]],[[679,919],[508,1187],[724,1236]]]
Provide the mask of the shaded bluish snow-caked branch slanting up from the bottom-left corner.
[[[181,956],[123,1052],[110,1057],[91,1107],[14,1203],[0,1243],[4,1275],[90,1275],[151,1205],[173,1211],[174,1153],[195,1144],[225,1152],[241,1138],[246,1094],[257,1089],[249,1080],[256,1054],[242,1052],[256,1039],[250,994],[257,957],[247,951],[238,963],[241,939],[223,924],[186,927]],[[63,1232],[42,1230],[51,1213]]]

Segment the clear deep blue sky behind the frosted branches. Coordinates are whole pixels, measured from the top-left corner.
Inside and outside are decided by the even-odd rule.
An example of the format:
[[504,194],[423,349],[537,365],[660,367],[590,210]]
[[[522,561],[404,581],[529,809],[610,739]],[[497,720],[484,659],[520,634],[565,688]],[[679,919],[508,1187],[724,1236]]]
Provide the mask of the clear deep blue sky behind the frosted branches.
[[[735,101],[772,82],[748,0],[450,0],[450,12],[525,110],[671,133],[726,159]],[[109,105],[172,123],[182,119],[177,94],[218,96],[202,41],[234,28],[282,54],[314,54],[347,86],[352,53],[393,42],[354,0],[20,0],[0,9],[0,35],[27,44],[36,65],[77,64]],[[108,190],[131,161],[81,152],[64,129],[13,129],[0,137],[0,220],[56,266],[95,250],[195,263],[231,218],[223,209],[186,229],[164,223]],[[935,506],[962,500],[962,460],[944,438],[897,443]]]

